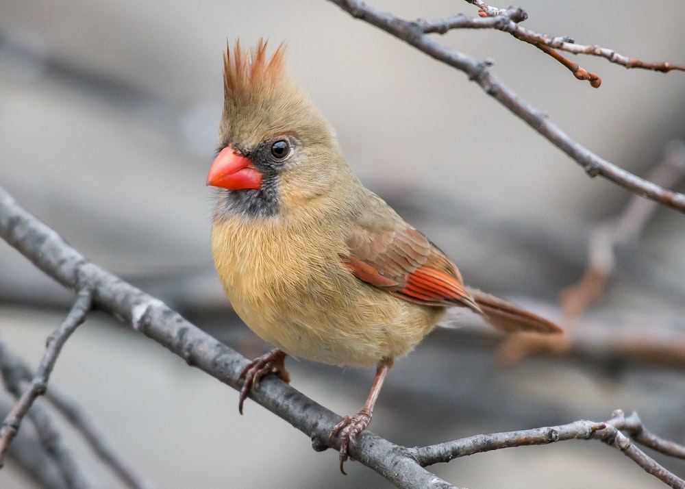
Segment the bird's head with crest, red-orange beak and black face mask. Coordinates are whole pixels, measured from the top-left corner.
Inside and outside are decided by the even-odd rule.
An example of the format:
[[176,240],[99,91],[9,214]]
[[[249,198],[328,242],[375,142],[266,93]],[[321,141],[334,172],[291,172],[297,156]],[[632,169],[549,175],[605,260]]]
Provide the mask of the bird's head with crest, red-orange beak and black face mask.
[[285,45],[224,55],[219,152],[207,177],[218,213],[274,217],[326,195],[349,169],[332,127],[292,79]]

